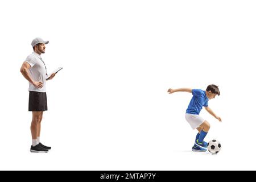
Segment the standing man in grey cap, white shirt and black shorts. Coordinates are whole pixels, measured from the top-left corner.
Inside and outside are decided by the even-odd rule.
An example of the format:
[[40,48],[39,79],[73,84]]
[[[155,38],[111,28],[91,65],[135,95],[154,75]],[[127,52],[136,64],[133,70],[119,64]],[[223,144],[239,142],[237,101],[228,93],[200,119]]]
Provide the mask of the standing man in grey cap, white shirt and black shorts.
[[46,52],[46,44],[48,43],[49,41],[44,41],[41,38],[32,40],[31,46],[34,52],[27,56],[20,68],[20,72],[29,82],[28,111],[32,111],[30,126],[32,135],[31,152],[48,152],[48,150],[51,150],[51,147],[40,143],[43,112],[47,110],[46,80],[51,80],[55,77],[55,73],[48,77],[46,65],[41,57],[41,54]]

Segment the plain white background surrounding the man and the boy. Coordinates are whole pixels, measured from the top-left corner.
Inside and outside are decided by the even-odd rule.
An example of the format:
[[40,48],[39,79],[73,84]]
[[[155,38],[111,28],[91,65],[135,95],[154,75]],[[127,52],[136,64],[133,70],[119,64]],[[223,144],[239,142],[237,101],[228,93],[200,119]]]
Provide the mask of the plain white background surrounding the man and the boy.
[[[0,169],[179,170],[255,167],[255,1],[5,1],[0,6]],[[31,154],[28,82],[19,72],[32,39],[49,40],[48,111]],[[193,153],[189,93],[216,84],[222,123]]]

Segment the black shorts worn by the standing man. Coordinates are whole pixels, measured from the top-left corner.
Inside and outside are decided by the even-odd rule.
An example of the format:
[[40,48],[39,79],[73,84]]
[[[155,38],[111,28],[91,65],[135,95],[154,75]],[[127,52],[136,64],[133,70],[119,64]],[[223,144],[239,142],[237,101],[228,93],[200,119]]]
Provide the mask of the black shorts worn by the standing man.
[[45,111],[47,110],[46,92],[30,91],[28,100],[28,111]]

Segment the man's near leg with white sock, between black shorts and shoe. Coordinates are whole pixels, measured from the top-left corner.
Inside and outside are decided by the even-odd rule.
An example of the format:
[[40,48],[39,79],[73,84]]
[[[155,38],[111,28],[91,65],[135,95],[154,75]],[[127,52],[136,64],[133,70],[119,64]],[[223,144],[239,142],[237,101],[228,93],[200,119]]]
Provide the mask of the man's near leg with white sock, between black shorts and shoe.
[[32,135],[32,146],[35,146],[37,144],[38,127],[39,127],[39,122],[41,120],[41,112],[42,111],[32,111],[32,122],[30,126],[31,135]]

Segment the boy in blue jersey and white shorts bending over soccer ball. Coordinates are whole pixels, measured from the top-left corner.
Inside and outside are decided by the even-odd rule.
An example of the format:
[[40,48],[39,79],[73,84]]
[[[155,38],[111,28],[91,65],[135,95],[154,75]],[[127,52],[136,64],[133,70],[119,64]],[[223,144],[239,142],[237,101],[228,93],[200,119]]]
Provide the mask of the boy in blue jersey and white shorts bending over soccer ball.
[[207,135],[210,124],[205,119],[201,118],[199,113],[201,109],[205,108],[214,118],[218,119],[221,122],[221,118],[218,117],[215,113],[213,113],[212,109],[208,106],[208,101],[215,96],[220,96],[220,90],[218,90],[218,86],[216,85],[208,85],[206,91],[201,89],[168,89],[168,93],[174,92],[189,92],[193,94],[193,97],[188,105],[188,109],[185,114],[185,118],[192,129],[197,129],[199,133],[196,135],[195,144],[192,147],[192,151],[197,152],[205,152],[207,151],[207,142],[204,142],[204,138]]

